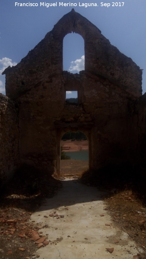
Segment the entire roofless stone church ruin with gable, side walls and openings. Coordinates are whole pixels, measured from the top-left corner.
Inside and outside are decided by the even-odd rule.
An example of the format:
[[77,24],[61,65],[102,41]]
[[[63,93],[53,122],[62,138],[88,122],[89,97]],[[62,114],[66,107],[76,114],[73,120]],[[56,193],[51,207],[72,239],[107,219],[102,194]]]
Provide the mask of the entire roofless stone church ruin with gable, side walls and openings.
[[[85,70],[79,74],[63,71],[63,38],[72,32],[84,39]],[[60,175],[60,140],[70,130],[88,138],[89,171],[124,165],[145,168],[142,70],[74,9],[3,74],[1,182],[22,164]],[[65,101],[66,91],[77,91],[77,104]]]

